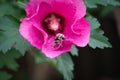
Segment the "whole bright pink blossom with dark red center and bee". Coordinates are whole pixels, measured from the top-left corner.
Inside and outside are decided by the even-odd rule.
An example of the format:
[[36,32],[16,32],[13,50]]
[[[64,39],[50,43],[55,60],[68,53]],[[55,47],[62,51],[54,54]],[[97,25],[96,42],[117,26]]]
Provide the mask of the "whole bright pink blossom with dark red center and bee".
[[30,0],[20,34],[49,58],[84,47],[89,42],[90,24],[84,18],[83,0]]

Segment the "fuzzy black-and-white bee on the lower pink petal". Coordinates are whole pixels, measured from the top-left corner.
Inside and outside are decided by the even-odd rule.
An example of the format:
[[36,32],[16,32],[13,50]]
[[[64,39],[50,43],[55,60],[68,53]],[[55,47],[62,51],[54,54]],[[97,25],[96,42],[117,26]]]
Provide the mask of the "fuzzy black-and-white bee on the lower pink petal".
[[58,33],[54,39],[54,47],[62,46],[62,41],[65,40],[65,36],[62,33]]

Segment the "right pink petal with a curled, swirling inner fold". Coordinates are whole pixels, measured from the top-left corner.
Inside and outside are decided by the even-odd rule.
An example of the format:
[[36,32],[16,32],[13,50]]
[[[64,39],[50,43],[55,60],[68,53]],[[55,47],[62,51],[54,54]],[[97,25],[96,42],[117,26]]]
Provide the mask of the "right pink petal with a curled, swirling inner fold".
[[90,23],[84,18],[79,19],[72,27],[66,27],[64,34],[77,46],[84,47],[89,42]]

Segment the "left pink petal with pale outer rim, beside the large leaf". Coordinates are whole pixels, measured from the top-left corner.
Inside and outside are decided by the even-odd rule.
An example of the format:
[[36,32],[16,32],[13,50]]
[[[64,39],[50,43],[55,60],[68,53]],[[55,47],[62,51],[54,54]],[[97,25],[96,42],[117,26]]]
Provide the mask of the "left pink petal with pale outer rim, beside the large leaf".
[[[45,33],[38,30],[31,22],[22,20],[19,29],[20,34],[28,40],[34,47],[41,49],[44,43]],[[44,35],[43,35],[44,34]]]

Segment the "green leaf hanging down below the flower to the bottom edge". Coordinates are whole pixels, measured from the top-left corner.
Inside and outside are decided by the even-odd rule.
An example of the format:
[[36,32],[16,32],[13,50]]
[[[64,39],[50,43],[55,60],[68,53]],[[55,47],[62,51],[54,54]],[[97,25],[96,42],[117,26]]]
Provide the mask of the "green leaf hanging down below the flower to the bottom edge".
[[63,74],[65,80],[73,79],[73,69],[74,64],[72,59],[68,53],[64,53],[63,55],[56,58],[57,59],[57,68],[61,74]]

